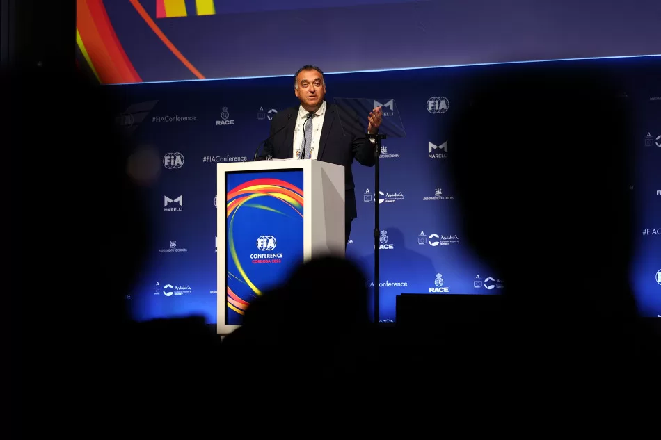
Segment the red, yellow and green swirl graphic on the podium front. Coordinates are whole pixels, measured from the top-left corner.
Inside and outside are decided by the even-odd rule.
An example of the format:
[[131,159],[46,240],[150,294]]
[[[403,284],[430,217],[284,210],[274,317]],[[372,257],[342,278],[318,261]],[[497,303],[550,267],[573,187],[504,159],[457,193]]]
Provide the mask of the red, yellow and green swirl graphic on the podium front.
[[[282,205],[282,211],[274,209],[266,204],[259,203],[259,197],[272,197],[278,204]],[[231,273],[228,270],[228,307],[237,313],[243,315],[248,307],[250,298],[240,298],[239,295],[230,288],[230,279],[237,279],[250,287],[256,295],[262,295],[257,286],[250,280],[246,270],[241,266],[237,248],[234,245],[234,217],[239,208],[250,207],[262,211],[271,211],[285,216],[298,215],[303,218],[303,190],[287,181],[280,179],[253,179],[240,184],[228,191],[227,195],[227,235],[228,235],[228,253],[231,256],[234,266],[239,272]]]

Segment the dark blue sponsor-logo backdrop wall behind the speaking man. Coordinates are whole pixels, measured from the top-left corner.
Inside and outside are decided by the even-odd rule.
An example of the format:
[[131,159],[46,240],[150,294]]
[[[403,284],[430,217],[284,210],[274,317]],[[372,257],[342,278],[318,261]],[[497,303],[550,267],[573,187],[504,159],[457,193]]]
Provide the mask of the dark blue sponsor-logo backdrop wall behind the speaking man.
[[[373,273],[372,231],[378,200],[383,229],[381,318],[395,320],[399,293],[429,293],[430,288],[442,286],[448,293],[494,294],[507,288],[507,280],[482,263],[465,241],[456,188],[447,173],[448,161],[461,145],[454,144],[447,131],[455,115],[468,105],[472,90],[491,74],[532,68],[538,73],[546,69],[566,73],[586,65],[610,74],[626,95],[632,125],[628,147],[621,154],[635,160],[631,190],[637,210],[630,231],[636,246],[630,277],[642,313],[661,315],[659,61],[628,58],[327,75],[327,99],[395,99],[406,130],[406,138],[383,143],[383,194],[374,194],[374,168],[353,166],[358,219],[347,252],[360,261],[368,276]],[[656,72],[650,70],[653,63]],[[124,99],[116,122],[136,145],[134,160],[150,163],[151,157],[157,163],[150,175],[142,176],[147,183],[144,203],[154,247],[143,277],[127,298],[133,316],[147,320],[197,313],[215,323],[216,164],[252,159],[257,145],[268,136],[273,114],[298,104],[292,76],[108,87]],[[498,103],[493,105],[498,111]],[[552,105],[562,112],[563,97]],[[597,144],[608,138],[608,133],[594,133]],[[491,141],[497,144],[497,140],[484,139]],[[563,154],[562,148],[549,154]],[[497,200],[484,201],[484,215],[500,214]],[[539,231],[537,238],[554,239],[552,231]],[[506,250],[507,237],[497,240]],[[563,288],[562,273],[545,273],[540,268],[539,278]],[[319,279],[319,283],[328,282],[333,282],[332,274]],[[607,279],[594,279],[595,288],[607,284]],[[166,285],[184,294],[155,294]]]

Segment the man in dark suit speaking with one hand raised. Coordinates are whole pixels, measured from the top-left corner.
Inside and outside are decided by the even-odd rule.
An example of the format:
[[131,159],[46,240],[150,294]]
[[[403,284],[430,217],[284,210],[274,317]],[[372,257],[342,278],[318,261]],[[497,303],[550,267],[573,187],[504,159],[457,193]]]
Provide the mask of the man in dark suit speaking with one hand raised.
[[[265,157],[317,159],[344,165],[344,235],[349,241],[351,222],[357,216],[351,164],[355,158],[361,165],[374,166],[374,140],[367,140],[361,133],[344,136],[335,104],[324,101],[326,83],[319,67],[305,65],[296,72],[294,95],[301,105],[273,116],[271,139],[264,145]],[[369,112],[367,133],[379,131],[381,117],[381,107]]]

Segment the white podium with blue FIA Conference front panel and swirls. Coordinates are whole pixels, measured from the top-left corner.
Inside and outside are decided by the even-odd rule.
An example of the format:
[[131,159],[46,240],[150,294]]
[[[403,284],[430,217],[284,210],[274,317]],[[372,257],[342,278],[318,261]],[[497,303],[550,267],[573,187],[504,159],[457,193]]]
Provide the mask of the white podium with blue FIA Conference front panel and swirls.
[[[344,167],[315,160],[219,163],[217,333],[317,256],[344,256]],[[319,280],[324,282],[324,280]]]

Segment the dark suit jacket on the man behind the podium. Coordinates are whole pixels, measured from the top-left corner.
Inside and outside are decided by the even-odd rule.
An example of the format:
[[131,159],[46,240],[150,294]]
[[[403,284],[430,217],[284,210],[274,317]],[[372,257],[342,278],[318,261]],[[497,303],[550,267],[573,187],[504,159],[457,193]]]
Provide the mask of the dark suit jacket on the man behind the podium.
[[[298,106],[287,108],[273,116],[271,120],[271,140],[264,144],[264,157],[271,156],[275,159],[286,159],[292,157],[294,151],[294,128],[296,128],[296,117]],[[367,130],[367,115],[365,115],[365,130]],[[282,127],[287,128],[282,129]],[[281,130],[282,129],[282,130]],[[280,132],[278,132],[280,130]],[[335,104],[326,101],[326,114],[324,115],[324,126],[321,127],[317,160],[337,165],[344,165],[344,218],[353,220],[356,218],[356,194],[353,188],[353,172],[351,164],[355,158],[358,163],[368,167],[374,166],[374,146],[365,138],[365,134],[356,133],[353,136],[344,136],[340,117],[337,115]]]

